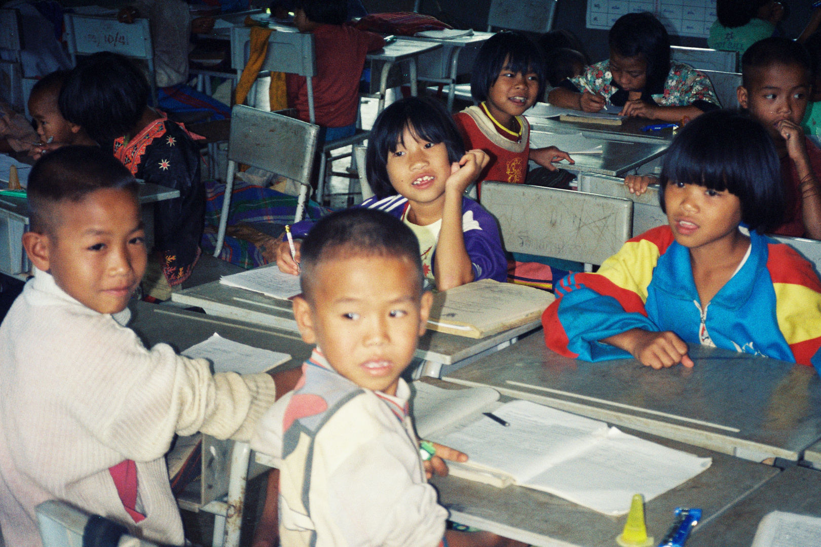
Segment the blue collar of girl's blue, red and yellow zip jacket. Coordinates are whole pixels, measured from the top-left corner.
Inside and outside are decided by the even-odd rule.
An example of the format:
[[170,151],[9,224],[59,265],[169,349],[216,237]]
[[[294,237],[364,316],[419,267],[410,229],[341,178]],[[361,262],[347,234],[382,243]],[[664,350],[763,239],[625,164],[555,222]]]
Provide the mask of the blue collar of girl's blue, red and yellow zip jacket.
[[[750,256],[741,270],[736,271],[727,284],[710,300],[710,305],[726,309],[741,308],[752,298],[755,280],[767,267],[768,238],[758,232],[750,232]],[[657,272],[653,275],[654,285],[675,299],[691,302],[698,298],[695,288],[693,268],[690,266],[690,249],[673,242],[663,257],[659,259]]]

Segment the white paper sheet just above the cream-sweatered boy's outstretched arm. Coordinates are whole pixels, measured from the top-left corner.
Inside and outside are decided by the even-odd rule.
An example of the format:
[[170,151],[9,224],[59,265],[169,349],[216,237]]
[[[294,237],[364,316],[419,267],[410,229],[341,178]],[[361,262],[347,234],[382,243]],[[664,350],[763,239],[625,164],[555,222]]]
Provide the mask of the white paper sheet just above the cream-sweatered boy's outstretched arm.
[[287,353],[240,344],[222,338],[216,332],[208,340],[191,346],[182,354],[190,358],[208,359],[213,363],[213,372],[239,372],[240,374],[268,372],[273,367],[291,359]]

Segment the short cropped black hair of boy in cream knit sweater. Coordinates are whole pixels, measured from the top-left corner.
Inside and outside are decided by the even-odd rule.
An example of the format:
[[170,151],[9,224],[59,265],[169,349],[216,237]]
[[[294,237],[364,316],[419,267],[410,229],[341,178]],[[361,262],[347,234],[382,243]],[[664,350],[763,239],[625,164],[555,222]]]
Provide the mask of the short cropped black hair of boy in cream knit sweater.
[[105,188],[124,189],[138,197],[139,186],[131,171],[99,147],[64,146],[44,155],[31,168],[26,188],[31,231],[54,235],[54,205],[77,203]]

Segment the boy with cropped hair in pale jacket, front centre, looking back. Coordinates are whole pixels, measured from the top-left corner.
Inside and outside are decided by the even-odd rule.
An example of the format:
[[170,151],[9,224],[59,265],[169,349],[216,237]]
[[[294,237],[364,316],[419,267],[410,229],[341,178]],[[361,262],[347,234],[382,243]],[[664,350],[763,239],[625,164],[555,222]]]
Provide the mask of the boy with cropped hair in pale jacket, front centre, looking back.
[[317,347],[251,440],[281,460],[281,545],[506,544],[445,531],[447,510],[425,480],[400,378],[433,302],[413,232],[351,208],[320,220],[301,255],[294,316]]

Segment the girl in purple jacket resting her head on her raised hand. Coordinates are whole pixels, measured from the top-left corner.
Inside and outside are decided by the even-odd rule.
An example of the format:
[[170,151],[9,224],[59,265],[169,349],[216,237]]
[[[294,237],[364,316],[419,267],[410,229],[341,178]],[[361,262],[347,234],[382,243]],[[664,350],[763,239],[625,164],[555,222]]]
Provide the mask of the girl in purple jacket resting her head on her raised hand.
[[[404,98],[385,108],[370,132],[365,170],[376,195],[359,207],[388,212],[413,230],[424,276],[438,290],[507,279],[496,221],[464,196],[487,162],[483,151],[465,151],[452,117],[441,104],[424,98]],[[291,232],[304,238],[313,225],[298,222]],[[296,275],[300,241],[291,257],[283,239],[277,265]]]

